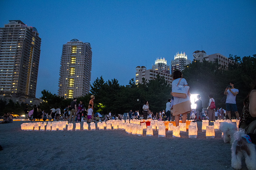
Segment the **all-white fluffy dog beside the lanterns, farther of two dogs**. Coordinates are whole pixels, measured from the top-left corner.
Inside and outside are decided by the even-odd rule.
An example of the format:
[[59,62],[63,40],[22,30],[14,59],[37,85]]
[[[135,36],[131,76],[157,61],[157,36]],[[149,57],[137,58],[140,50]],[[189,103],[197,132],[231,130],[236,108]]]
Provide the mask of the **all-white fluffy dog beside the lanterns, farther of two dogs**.
[[223,132],[224,143],[233,143],[234,133],[237,132],[237,127],[234,123],[221,122],[219,130]]

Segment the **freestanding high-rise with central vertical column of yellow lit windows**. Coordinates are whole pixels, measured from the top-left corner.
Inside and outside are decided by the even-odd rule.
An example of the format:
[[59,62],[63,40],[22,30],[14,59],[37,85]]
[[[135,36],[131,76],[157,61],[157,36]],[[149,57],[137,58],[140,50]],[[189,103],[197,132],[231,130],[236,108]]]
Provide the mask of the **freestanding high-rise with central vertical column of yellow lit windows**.
[[58,96],[73,98],[89,93],[91,45],[72,39],[62,47]]

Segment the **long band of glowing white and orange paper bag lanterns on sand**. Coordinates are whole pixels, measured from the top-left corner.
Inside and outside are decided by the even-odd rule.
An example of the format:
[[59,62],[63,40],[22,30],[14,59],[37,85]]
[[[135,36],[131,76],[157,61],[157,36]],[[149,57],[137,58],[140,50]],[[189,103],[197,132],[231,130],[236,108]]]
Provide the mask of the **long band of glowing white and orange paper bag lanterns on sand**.
[[[230,120],[224,120],[226,122],[231,122]],[[206,132],[206,138],[214,138],[215,131],[219,131],[220,123],[224,122],[223,120],[216,120],[213,126],[209,126],[208,120],[202,121],[202,132]],[[238,127],[239,120],[232,120],[232,122],[236,122]],[[186,121],[186,123],[179,123],[179,126],[173,126],[173,122],[169,123],[168,121],[158,121],[152,120],[150,121],[150,126],[146,126],[147,121],[144,120],[109,120],[106,122],[98,122],[97,127],[99,130],[125,130],[128,134],[143,135],[143,130],[146,130],[146,136],[153,136],[153,130],[158,131],[158,137],[165,137],[166,130],[168,132],[173,133],[173,137],[180,137],[180,132],[186,132],[188,129],[189,138],[197,138],[198,127],[196,122]],[[141,124],[141,125],[140,125]],[[81,130],[81,124],[75,124],[75,131]],[[83,130],[89,130],[89,124],[83,122]],[[72,131],[74,124],[68,123],[68,121],[55,121],[55,122],[36,122],[36,123],[23,123],[21,124],[21,130],[25,131],[63,131],[66,129],[67,131]],[[46,129],[45,129],[46,127]],[[90,123],[90,130],[96,130],[95,123]],[[222,134],[223,137],[223,134]]]

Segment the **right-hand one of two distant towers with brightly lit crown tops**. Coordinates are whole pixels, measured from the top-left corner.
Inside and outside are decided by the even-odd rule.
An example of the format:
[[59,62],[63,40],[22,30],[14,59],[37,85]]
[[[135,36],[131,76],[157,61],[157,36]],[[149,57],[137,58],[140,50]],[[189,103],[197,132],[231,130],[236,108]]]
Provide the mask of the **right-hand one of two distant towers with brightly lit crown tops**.
[[171,74],[174,72],[174,69],[178,69],[179,71],[183,71],[185,69],[185,66],[190,64],[191,61],[188,60],[187,55],[184,53],[180,53],[178,52],[178,54],[176,53],[176,55],[174,56],[174,60],[171,61],[171,65],[172,65],[172,72]]

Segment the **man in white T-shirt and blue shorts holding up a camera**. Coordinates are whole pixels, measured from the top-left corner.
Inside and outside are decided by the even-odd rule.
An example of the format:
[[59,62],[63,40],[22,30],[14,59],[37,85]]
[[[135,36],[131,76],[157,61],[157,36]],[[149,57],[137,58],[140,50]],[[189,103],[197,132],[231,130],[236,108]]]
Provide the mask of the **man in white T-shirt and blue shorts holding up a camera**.
[[238,89],[234,88],[234,82],[229,82],[229,86],[225,89],[224,95],[227,95],[226,99],[226,110],[228,112],[228,118],[231,120],[231,111],[236,113],[236,118],[239,120],[239,113],[236,108],[236,95],[238,94]]

